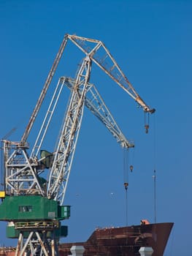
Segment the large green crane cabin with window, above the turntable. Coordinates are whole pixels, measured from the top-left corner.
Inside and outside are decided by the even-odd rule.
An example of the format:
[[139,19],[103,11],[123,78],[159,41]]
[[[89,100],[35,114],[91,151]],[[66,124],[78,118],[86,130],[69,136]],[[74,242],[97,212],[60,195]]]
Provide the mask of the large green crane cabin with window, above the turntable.
[[0,205],[0,220],[8,222],[69,219],[70,206],[40,195],[7,196]]

